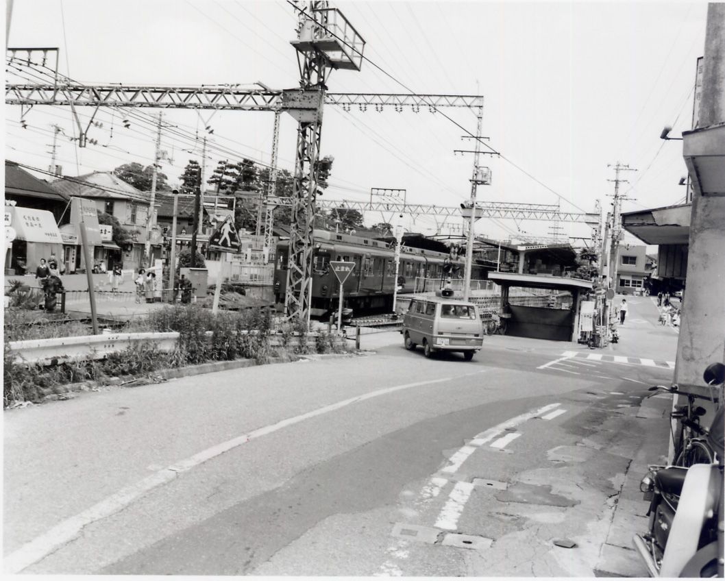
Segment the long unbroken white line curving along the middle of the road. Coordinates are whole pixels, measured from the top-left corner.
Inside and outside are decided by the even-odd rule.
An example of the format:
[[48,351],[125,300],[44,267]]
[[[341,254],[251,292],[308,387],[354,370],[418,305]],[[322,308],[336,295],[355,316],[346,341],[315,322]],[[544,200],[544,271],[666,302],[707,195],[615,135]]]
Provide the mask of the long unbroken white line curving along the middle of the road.
[[283,419],[276,424],[261,427],[258,430],[242,434],[237,438],[232,438],[231,440],[220,443],[217,446],[207,448],[206,450],[196,453],[194,456],[190,456],[187,459],[181,460],[170,467],[154,472],[154,474],[136,482],[135,484],[122,488],[117,493],[112,494],[103,501],[94,504],[94,506],[91,506],[90,509],[83,511],[80,514],[76,514],[75,517],[70,517],[70,519],[65,519],[64,521],[59,522],[57,525],[52,527],[51,530],[44,532],[42,535],[34,538],[28,543],[25,543],[25,545],[5,557],[3,559],[4,572],[10,574],[21,572],[22,569],[30,567],[33,563],[43,559],[43,557],[47,556],[51,553],[51,551],[54,551],[55,548],[76,538],[83,527],[125,509],[126,506],[129,506],[130,503],[136,501],[137,498],[144,496],[144,494],[148,493],[150,490],[173,480],[178,472],[185,472],[186,470],[194,468],[199,464],[223,454],[224,452],[230,451],[237,446],[241,446],[250,440],[261,438],[263,435],[271,434],[272,432],[281,430],[284,427],[304,422],[306,419],[321,416],[329,413],[330,411],[335,411],[351,404],[357,404],[360,401],[385,396],[388,393],[393,393],[399,390],[420,387],[421,385],[445,383],[453,379],[454,377],[442,377],[436,380],[405,383],[403,385],[395,385],[392,388],[371,391],[370,393],[365,393],[362,396],[344,399],[342,401],[338,401],[336,404],[330,404],[328,406],[308,411],[306,414]]

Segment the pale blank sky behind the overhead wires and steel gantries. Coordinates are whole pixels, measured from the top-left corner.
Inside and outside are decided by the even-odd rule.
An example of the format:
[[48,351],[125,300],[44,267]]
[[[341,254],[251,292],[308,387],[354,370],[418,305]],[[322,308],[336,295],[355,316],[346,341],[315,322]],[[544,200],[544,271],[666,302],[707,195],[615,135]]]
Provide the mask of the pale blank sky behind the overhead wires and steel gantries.
[[[482,134],[502,156],[481,156],[492,185],[484,201],[560,204],[563,211],[609,209],[613,165],[629,183],[624,212],[678,204],[687,175],[681,141],[692,128],[697,57],[705,43],[707,4],[697,2],[347,1],[341,10],[365,38],[360,72],[334,70],[334,93],[444,93],[484,96]],[[290,41],[297,17],[284,0],[16,0],[8,46],[57,46],[59,72],[88,85],[202,85],[260,81],[270,88],[299,83]],[[18,82],[6,66],[6,79]],[[19,74],[19,73],[18,73]],[[29,80],[35,81],[36,78]],[[83,125],[92,109],[78,109]],[[77,148],[67,107],[5,106],[6,159],[46,170],[57,124],[57,163],[65,175],[152,164],[158,109],[101,109]],[[450,120],[421,109],[344,111],[326,106],[321,154],[334,156],[328,199],[368,201],[370,188],[399,188],[415,204],[457,206],[471,194],[473,156],[463,130],[476,132],[470,109],[446,109]],[[123,127],[123,119],[130,128]],[[207,175],[221,159],[270,163],[271,112],[165,109],[162,162],[170,183],[189,159],[201,160],[207,134]],[[281,117],[278,166],[294,170],[296,122]],[[181,135],[180,135],[181,134]],[[183,135],[183,136],[182,136]],[[42,177],[42,176],[41,176]],[[366,225],[398,220],[366,212]],[[436,222],[437,220],[437,222]],[[460,218],[404,217],[407,230],[431,234],[460,227]],[[588,237],[591,227],[562,222],[560,233]],[[551,222],[482,219],[476,234],[552,235]],[[580,241],[576,241],[580,243]],[[641,243],[626,235],[625,243]]]

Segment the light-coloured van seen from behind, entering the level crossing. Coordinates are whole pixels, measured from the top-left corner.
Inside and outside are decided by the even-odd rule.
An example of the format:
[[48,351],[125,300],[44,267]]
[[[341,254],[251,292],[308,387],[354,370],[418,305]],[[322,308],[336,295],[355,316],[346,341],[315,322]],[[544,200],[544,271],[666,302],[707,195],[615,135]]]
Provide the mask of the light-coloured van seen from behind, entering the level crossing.
[[413,298],[400,331],[405,348],[423,346],[430,357],[436,351],[459,351],[471,361],[484,346],[484,326],[478,307],[456,298]]

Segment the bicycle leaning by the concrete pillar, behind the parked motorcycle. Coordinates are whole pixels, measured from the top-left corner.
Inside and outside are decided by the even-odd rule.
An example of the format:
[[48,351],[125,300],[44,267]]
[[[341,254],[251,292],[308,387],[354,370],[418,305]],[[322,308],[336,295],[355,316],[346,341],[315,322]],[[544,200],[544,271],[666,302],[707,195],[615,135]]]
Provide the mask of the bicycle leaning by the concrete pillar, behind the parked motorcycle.
[[[716,454],[708,444],[706,438],[708,435],[707,428],[700,425],[700,417],[706,413],[705,408],[695,405],[696,399],[712,401],[718,405],[720,398],[711,394],[711,396],[702,396],[699,393],[691,393],[683,391],[678,385],[671,387],[665,385],[654,385],[650,391],[655,393],[666,392],[674,395],[687,396],[687,404],[675,406],[670,412],[671,419],[679,421],[679,437],[675,438],[674,428],[670,425],[672,440],[675,443],[673,466],[687,468],[693,464],[712,464],[716,461]],[[655,393],[652,395],[654,396]],[[652,397],[652,396],[648,396]]]

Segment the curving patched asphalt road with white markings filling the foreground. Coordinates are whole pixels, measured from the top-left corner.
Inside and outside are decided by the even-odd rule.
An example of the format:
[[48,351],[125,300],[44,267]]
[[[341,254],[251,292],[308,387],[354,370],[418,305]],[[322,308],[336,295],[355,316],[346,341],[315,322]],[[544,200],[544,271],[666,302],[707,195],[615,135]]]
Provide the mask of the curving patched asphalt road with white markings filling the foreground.
[[4,567],[591,576],[644,436],[632,414],[671,379],[642,363],[674,359],[650,306],[633,301],[627,361],[506,337],[429,360],[390,334],[376,354],[6,412]]

